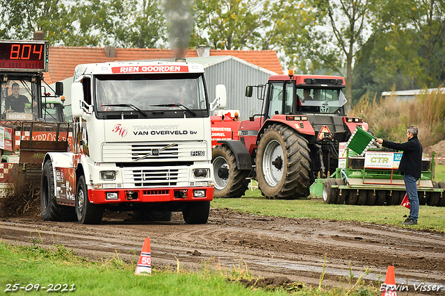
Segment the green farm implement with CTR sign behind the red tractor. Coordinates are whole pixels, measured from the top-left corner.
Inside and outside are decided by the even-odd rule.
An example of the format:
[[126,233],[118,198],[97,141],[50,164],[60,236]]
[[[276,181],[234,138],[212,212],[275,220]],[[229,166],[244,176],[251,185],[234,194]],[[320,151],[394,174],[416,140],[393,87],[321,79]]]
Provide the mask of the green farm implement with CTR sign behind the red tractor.
[[[357,128],[348,142],[340,144],[339,167],[329,179],[317,179],[312,197],[327,204],[367,206],[400,205],[405,197],[403,175],[398,172],[402,151],[373,145],[373,135]],[[433,181],[435,154],[423,158],[417,183],[419,204],[445,206],[445,182]]]

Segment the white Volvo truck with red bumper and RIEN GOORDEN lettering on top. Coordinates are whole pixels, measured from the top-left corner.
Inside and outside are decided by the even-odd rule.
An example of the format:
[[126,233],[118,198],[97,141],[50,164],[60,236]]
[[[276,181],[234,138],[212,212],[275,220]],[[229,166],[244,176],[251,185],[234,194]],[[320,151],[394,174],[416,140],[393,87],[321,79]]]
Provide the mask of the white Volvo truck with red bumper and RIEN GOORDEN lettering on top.
[[224,85],[209,102],[195,63],[78,65],[71,92],[72,151],[42,163],[44,220],[102,221],[104,209],[143,220],[204,224],[213,199],[211,111],[225,108]]

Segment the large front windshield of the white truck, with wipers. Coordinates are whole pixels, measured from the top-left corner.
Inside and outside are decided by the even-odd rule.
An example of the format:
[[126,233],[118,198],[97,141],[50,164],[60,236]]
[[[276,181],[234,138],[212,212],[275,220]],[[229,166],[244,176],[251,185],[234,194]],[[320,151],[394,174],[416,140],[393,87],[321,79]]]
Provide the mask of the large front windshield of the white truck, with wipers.
[[164,113],[168,117],[170,111],[182,112],[181,106],[208,114],[202,74],[97,75],[95,105],[102,115],[136,110],[141,116]]

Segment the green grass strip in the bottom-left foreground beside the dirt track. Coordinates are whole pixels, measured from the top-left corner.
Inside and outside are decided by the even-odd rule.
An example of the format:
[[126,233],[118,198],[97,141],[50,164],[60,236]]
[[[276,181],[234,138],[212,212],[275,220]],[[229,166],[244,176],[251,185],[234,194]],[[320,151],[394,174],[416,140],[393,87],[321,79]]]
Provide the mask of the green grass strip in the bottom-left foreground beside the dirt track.
[[[62,245],[42,249],[38,245],[22,247],[0,242],[1,295],[48,295],[48,292],[101,296],[378,295],[378,288],[366,287],[362,283],[350,291],[348,288],[305,287],[301,283],[291,283],[275,290],[245,288],[236,281],[252,278],[248,268],[243,267],[227,272],[203,263],[200,272],[187,272],[181,268],[175,272],[153,270],[150,276],[134,275],[135,268],[136,263],[124,263],[117,256],[91,262],[74,256]],[[350,287],[354,284],[351,283]]]

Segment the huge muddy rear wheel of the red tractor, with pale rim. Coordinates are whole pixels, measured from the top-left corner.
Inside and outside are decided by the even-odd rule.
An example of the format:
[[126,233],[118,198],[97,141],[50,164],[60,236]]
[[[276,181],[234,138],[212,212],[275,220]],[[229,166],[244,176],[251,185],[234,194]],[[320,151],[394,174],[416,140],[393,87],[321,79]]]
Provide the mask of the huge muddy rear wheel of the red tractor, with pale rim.
[[273,124],[261,135],[256,170],[268,199],[307,197],[310,167],[308,142],[291,127]]

